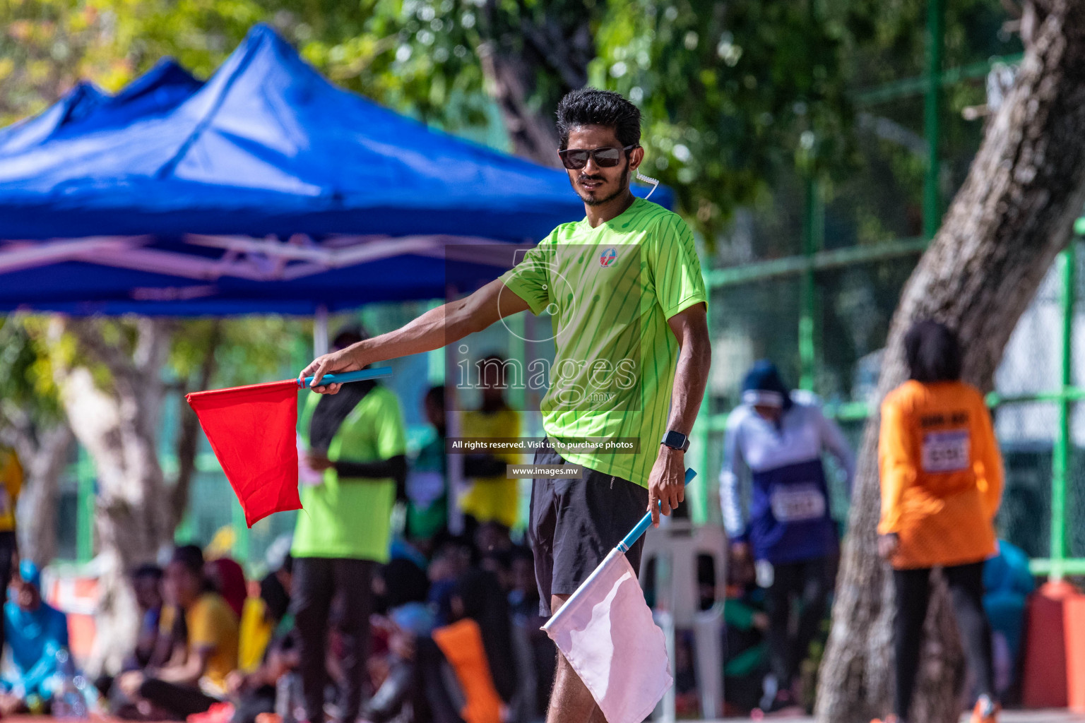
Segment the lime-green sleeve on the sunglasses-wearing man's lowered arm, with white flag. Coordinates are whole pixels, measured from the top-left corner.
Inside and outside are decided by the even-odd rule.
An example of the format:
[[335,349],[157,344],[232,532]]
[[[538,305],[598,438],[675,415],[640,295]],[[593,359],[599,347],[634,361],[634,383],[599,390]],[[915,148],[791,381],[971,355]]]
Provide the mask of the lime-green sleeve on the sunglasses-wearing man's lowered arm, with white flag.
[[664,317],[669,319],[694,304],[707,305],[693,232],[676,214],[660,220],[658,233],[652,234],[648,260],[655,281],[655,298]]

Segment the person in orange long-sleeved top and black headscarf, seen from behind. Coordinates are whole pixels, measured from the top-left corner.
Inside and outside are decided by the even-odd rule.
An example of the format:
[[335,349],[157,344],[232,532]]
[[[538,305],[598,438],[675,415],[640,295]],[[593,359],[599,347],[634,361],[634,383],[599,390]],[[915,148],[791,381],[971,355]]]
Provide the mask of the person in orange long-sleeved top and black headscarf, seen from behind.
[[960,380],[957,336],[944,324],[922,321],[905,335],[904,349],[910,378],[882,402],[878,443],[878,551],[892,564],[896,586],[895,720],[909,720],[931,569],[941,567],[980,686],[972,722],[994,723],[998,706],[991,627],[983,611],[983,563],[997,550],[998,443],[983,395]]

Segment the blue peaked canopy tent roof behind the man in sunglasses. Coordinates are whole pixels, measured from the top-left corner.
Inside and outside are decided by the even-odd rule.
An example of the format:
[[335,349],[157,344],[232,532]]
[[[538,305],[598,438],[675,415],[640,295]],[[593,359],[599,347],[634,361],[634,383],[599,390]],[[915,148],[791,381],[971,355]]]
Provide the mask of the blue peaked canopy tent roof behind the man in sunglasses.
[[0,309],[434,298],[583,215],[564,171],[335,88],[258,25],[206,82],[165,61],[0,130]]

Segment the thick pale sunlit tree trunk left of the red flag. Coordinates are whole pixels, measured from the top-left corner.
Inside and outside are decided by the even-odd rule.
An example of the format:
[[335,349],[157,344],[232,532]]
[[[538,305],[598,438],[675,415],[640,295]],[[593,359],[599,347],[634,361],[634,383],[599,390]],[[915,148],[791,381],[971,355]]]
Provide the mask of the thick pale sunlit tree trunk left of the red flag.
[[127,572],[154,560],[173,537],[170,495],[158,464],[156,439],[169,334],[162,321],[139,320],[137,341],[129,354],[105,343],[93,320],[65,323],[58,319],[51,330],[54,340],[64,331],[78,339],[85,354],[81,359],[103,364],[111,376],[106,390],[88,366],[54,360],[68,422],[93,457],[98,474],[94,530],[101,564],[100,601],[88,669],[92,673],[112,672],[136,641],[139,616]]

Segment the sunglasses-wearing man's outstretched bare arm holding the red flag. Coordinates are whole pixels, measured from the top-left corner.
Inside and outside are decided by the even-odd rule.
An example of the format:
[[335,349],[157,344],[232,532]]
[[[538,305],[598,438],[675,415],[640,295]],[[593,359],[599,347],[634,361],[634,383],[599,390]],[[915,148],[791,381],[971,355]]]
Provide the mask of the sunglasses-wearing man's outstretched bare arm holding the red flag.
[[430,309],[394,332],[317,357],[302,370],[301,376],[316,377],[314,391],[334,395],[341,385],[317,386],[324,374],[354,372],[386,359],[433,351],[527,309],[527,302],[498,279],[470,296]]

